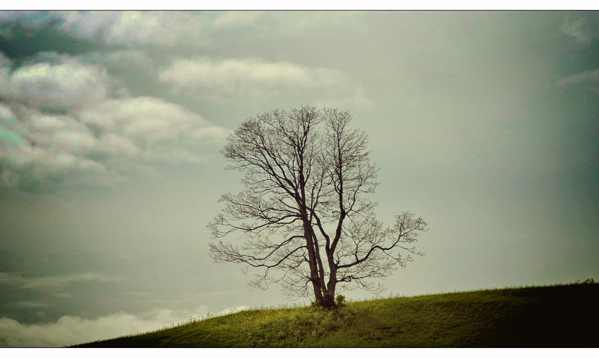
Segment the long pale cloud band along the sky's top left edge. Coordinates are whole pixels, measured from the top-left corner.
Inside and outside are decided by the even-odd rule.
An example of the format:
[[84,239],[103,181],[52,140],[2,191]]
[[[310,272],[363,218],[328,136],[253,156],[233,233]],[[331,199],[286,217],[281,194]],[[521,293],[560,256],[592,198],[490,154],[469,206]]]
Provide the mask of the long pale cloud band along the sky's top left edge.
[[348,24],[364,27],[356,11],[3,11],[0,37],[51,30],[71,38],[108,44],[196,47],[216,32],[252,25],[279,34]]

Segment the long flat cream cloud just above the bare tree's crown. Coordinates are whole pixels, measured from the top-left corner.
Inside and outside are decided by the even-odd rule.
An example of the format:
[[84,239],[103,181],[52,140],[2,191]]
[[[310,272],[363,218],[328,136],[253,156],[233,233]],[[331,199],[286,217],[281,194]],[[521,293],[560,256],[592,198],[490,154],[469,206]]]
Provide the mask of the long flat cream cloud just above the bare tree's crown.
[[170,83],[174,93],[193,93],[220,103],[255,103],[303,95],[314,98],[357,96],[359,104],[368,102],[358,93],[361,87],[337,69],[308,68],[291,62],[179,58],[161,71],[159,80]]

